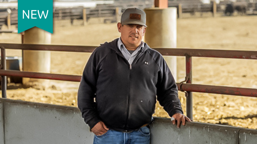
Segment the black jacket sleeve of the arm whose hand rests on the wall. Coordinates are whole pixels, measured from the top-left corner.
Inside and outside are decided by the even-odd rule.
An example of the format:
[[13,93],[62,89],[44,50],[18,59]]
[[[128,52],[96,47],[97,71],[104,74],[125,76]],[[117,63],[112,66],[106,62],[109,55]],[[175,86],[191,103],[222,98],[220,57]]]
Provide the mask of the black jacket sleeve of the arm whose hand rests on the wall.
[[183,114],[178,98],[177,85],[164,58],[159,63],[157,81],[157,100],[164,110],[172,117],[175,113]]

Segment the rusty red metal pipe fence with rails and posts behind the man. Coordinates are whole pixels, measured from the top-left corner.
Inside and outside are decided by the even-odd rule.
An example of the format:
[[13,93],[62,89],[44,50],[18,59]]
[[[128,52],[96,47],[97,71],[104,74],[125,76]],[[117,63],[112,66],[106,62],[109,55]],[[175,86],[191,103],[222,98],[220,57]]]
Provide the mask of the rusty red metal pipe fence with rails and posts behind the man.
[[[44,50],[62,52],[93,52],[96,46],[70,46],[70,45],[42,45],[42,44],[0,44],[1,47],[1,69],[2,77],[2,98],[6,98],[6,76],[28,77],[37,79],[53,79],[80,82],[81,76],[38,73],[28,71],[6,70],[5,49],[19,50]],[[256,88],[242,88],[216,85],[199,85],[192,83],[192,57],[209,58],[239,58],[257,60],[257,51],[242,50],[213,50],[213,49],[179,49],[179,48],[155,48],[162,55],[185,56],[186,57],[186,78],[177,83],[178,90],[186,93],[186,114],[193,119],[193,94],[192,92],[213,93],[223,95],[236,95],[257,98]]]

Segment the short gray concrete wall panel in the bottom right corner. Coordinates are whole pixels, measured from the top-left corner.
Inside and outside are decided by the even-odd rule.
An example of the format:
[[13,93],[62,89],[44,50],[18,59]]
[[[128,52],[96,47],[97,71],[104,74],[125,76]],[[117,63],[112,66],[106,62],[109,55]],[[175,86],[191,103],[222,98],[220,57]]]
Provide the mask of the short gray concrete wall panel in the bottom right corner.
[[257,143],[257,130],[241,129],[239,131],[239,144],[254,144]]

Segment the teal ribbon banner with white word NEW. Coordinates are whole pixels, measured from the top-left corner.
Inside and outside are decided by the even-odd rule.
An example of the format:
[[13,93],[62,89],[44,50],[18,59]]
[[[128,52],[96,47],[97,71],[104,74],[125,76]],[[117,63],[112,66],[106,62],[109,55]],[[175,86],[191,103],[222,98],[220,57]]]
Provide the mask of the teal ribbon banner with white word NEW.
[[53,33],[53,0],[18,0],[18,33],[34,26]]

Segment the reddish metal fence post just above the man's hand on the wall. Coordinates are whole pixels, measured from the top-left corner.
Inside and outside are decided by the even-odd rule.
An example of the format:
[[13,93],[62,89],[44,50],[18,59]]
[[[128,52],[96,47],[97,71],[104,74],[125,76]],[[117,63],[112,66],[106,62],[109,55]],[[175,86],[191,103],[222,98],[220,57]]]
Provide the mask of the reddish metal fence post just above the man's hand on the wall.
[[[186,83],[192,83],[192,57],[191,56],[186,56],[186,77],[188,78]],[[193,119],[193,93],[191,91],[187,91],[186,115],[190,119]]]

